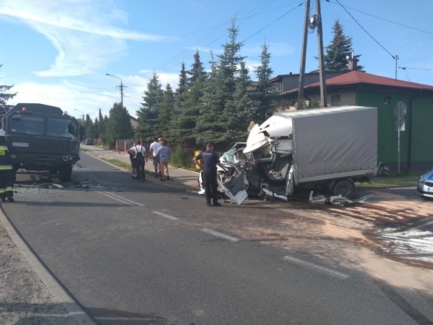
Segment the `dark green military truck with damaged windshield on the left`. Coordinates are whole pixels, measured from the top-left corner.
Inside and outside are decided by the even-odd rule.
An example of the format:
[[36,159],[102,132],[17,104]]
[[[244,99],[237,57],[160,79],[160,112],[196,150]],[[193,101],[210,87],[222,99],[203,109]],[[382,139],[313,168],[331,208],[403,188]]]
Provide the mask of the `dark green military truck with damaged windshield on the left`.
[[13,168],[59,172],[59,180],[71,179],[72,167],[80,160],[80,138],[84,128],[59,107],[17,104],[2,117],[2,128],[12,145]]

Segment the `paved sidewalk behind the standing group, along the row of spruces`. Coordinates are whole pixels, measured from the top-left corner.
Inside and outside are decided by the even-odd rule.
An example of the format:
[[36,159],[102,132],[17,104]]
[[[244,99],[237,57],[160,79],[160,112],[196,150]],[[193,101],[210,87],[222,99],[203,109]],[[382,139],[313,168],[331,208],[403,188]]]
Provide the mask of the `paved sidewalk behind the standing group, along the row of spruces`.
[[[92,146],[92,145],[83,145],[81,147],[85,149],[85,154],[94,156],[96,158],[106,158],[106,159],[115,159],[127,164],[131,163],[129,155],[126,153],[118,153],[116,151],[104,150],[100,147]],[[104,160],[107,162],[106,160]],[[118,166],[116,166],[118,167]],[[144,169],[146,170],[146,181],[156,181],[159,182],[159,179],[153,178],[154,175],[154,167],[151,159],[147,160],[147,163],[144,165]],[[177,186],[185,186],[192,188],[191,190],[199,190],[199,186],[197,183],[199,172],[194,172],[191,170],[181,169],[169,166],[168,167],[170,180],[167,180],[164,184],[174,184]],[[131,170],[126,170],[131,172]]]

